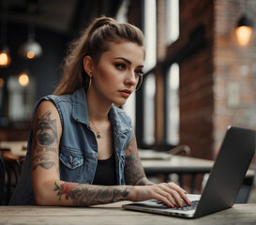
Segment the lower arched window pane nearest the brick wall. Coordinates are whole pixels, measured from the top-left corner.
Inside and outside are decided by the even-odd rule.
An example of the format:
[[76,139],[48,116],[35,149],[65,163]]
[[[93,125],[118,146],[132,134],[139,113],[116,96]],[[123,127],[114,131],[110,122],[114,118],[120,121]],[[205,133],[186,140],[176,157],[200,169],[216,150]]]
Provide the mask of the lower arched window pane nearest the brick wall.
[[179,66],[173,64],[167,74],[167,135],[166,142],[179,143]]

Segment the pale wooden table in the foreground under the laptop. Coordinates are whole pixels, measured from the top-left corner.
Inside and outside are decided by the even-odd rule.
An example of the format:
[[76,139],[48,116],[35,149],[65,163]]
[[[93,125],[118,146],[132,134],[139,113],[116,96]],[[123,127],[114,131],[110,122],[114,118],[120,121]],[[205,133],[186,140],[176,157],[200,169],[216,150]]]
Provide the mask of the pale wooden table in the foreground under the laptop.
[[0,206],[0,224],[256,224],[256,204],[235,204],[233,208],[203,218],[173,218],[156,214],[128,211],[123,203],[90,208],[58,206]]

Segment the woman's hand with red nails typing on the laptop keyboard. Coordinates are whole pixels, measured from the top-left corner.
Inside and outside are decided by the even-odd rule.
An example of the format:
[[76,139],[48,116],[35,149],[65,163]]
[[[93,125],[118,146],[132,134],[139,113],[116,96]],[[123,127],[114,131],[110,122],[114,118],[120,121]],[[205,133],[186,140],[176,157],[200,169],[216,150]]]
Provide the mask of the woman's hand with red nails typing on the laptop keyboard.
[[183,200],[191,205],[188,200],[187,192],[173,182],[161,183],[158,185],[135,186],[128,193],[128,201],[139,202],[149,199],[156,199],[166,203],[170,207],[183,207]]

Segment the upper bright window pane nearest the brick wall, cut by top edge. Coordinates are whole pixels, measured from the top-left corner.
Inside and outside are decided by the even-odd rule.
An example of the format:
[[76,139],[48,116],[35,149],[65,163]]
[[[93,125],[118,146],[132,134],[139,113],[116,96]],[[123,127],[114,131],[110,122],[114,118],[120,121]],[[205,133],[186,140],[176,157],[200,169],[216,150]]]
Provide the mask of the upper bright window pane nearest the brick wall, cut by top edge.
[[166,41],[172,44],[179,37],[179,0],[166,0]]

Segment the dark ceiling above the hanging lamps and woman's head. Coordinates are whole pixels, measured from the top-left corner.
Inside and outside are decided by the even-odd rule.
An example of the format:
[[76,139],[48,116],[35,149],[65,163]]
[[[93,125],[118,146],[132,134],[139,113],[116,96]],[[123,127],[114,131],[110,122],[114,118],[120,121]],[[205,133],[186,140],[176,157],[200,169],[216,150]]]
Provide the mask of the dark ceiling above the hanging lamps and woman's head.
[[35,23],[37,27],[68,35],[94,16],[114,16],[123,0],[1,0],[8,23]]

